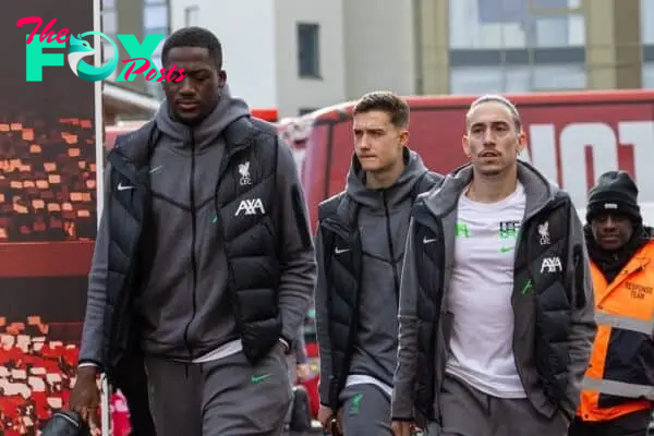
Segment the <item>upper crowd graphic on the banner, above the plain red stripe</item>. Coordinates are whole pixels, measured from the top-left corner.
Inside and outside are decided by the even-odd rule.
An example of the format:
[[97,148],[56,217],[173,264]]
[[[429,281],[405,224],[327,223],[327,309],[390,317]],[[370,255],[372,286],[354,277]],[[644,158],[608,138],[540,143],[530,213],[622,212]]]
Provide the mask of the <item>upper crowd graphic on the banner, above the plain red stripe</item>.
[[0,122],[0,241],[95,239],[93,122]]

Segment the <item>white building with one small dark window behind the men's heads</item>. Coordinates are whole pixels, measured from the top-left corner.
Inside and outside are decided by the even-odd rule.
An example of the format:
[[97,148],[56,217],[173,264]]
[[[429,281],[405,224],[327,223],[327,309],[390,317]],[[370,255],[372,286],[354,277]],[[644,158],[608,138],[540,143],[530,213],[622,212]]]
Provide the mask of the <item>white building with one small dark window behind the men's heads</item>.
[[410,0],[171,0],[171,31],[222,43],[233,94],[280,117],[374,89],[415,93]]

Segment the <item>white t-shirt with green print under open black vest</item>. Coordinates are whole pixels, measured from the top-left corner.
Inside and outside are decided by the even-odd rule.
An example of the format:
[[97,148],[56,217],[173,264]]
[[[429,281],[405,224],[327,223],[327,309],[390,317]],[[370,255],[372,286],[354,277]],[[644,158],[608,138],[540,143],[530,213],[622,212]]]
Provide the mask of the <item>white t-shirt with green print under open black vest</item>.
[[524,187],[497,203],[459,198],[455,266],[447,293],[453,314],[446,371],[498,398],[525,398],[513,359],[513,264]]

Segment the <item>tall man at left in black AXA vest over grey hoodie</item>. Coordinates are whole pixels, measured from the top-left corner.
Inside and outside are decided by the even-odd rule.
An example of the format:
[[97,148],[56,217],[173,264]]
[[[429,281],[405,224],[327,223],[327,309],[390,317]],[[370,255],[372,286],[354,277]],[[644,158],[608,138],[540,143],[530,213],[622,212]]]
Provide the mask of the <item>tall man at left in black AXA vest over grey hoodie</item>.
[[71,407],[94,423],[99,372],[135,355],[157,436],[278,436],[315,286],[295,161],[231,95],[213,33],[161,53],[166,100],[109,155]]

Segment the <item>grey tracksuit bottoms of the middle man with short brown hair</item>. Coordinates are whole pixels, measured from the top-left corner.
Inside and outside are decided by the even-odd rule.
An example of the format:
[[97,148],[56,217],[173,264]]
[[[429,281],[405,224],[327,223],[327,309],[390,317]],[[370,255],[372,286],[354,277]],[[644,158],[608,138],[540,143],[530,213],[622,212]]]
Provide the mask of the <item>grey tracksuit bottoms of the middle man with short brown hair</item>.
[[377,386],[349,386],[340,399],[344,436],[392,436],[390,398]]

